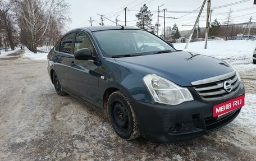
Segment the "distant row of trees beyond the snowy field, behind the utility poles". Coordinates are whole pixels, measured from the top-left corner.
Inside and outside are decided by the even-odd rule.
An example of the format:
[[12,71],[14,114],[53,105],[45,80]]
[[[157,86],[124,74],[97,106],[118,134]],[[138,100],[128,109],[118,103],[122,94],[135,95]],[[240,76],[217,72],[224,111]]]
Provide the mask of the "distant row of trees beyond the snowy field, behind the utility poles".
[[[154,27],[154,25],[152,25],[152,16],[153,14],[150,12],[150,10],[148,10],[148,7],[146,6],[146,4],[144,4],[141,8],[138,14],[135,15],[138,19],[138,21],[136,22],[136,26],[144,29],[144,30],[148,30],[151,33],[156,33],[156,27]],[[250,19],[250,21],[252,20],[252,18]],[[237,35],[237,34],[244,34],[245,31],[248,31],[249,33],[249,23],[247,25],[247,28],[243,27],[238,27],[236,25],[234,25],[232,22],[234,21],[234,19],[232,19],[232,10],[228,10],[227,15],[226,15],[226,19],[221,23],[220,21],[218,21],[217,19],[215,19],[213,22],[211,22],[211,25],[209,27],[209,36],[219,36],[219,37],[226,37],[227,39],[232,39],[233,36]],[[250,22],[249,21],[249,22]],[[255,33],[255,29],[251,29],[250,32],[252,34]],[[164,29],[162,30],[162,34],[160,35],[161,38],[163,38],[163,35],[165,34],[165,38],[167,41],[170,42],[176,42],[177,39],[180,38],[180,32],[179,32],[179,28],[176,24],[173,25],[173,27],[171,26],[166,26],[165,32]],[[250,33],[249,33],[250,34]],[[188,38],[188,36],[190,35],[190,33],[184,35],[186,38]],[[194,30],[192,39],[197,40],[197,39],[204,39],[205,38],[205,29],[202,29],[198,26],[196,26],[196,29]],[[184,39],[181,39],[185,41]]]

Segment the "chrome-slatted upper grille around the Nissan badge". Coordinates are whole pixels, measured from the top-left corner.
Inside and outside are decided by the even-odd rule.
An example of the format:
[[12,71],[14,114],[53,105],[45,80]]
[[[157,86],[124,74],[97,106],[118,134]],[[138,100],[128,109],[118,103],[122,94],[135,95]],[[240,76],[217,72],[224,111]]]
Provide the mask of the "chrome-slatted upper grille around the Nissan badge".
[[[231,85],[231,91],[224,89],[224,82]],[[236,72],[212,77],[205,80],[199,80],[191,83],[203,100],[220,100],[234,95],[239,90],[239,79]]]

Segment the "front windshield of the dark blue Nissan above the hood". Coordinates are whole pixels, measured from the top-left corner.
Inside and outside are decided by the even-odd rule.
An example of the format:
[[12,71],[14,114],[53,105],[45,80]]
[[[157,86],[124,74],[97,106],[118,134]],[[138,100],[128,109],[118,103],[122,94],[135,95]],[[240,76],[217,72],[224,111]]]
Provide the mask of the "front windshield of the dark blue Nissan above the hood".
[[144,30],[95,31],[94,36],[104,57],[142,56],[163,50],[176,51],[157,36]]

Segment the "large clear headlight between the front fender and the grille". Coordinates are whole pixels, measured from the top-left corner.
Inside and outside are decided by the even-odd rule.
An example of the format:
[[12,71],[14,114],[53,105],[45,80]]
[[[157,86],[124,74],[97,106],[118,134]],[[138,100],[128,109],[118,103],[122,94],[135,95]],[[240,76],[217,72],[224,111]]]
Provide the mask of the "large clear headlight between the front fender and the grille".
[[143,81],[155,102],[175,105],[194,100],[187,88],[178,86],[163,77],[150,74],[144,76]]

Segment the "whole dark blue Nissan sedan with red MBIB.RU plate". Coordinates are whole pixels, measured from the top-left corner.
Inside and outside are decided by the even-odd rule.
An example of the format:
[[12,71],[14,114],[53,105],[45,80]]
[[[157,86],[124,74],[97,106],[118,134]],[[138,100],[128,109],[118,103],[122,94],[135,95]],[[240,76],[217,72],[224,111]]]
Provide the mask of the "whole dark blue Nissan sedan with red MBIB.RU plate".
[[244,84],[228,63],[176,50],[135,27],[69,31],[49,52],[48,72],[58,95],[90,104],[126,140],[202,136],[244,105]]

